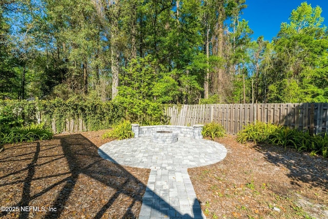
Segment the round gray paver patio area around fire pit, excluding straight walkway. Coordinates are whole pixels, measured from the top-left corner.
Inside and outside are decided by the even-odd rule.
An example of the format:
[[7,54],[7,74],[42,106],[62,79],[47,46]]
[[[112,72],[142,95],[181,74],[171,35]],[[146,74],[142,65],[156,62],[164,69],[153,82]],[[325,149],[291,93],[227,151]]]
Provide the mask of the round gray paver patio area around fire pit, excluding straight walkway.
[[151,137],[130,138],[102,145],[98,153],[106,160],[139,168],[180,169],[217,163],[227,155],[227,149],[204,139],[179,137],[176,143],[153,143]]

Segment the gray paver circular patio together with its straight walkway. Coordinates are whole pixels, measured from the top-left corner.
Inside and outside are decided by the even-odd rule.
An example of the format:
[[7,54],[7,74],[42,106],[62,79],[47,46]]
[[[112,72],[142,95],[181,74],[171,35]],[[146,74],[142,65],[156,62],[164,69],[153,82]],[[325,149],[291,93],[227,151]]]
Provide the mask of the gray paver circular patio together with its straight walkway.
[[139,218],[205,218],[187,168],[223,160],[227,149],[209,140],[179,137],[176,143],[157,144],[150,137],[104,144],[101,157],[131,167],[150,168]]

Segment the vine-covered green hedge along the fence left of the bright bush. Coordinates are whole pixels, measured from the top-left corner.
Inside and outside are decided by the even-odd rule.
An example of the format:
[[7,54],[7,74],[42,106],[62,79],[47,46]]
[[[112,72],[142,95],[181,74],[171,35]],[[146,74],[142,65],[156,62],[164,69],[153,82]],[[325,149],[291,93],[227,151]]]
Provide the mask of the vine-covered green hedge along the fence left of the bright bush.
[[[39,112],[39,113],[38,113]],[[55,99],[53,101],[0,100],[0,131],[37,123],[40,114],[46,128],[56,123],[56,132],[63,132],[66,120],[80,118],[86,130],[110,128],[124,118],[124,109],[112,102],[76,101]]]

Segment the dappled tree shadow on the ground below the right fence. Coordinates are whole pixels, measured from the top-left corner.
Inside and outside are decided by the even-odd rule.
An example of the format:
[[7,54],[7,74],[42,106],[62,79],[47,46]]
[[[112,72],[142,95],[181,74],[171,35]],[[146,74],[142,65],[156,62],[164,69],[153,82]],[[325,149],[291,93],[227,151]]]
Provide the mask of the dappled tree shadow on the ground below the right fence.
[[291,184],[298,185],[303,182],[311,187],[319,187],[328,192],[328,160],[323,157],[310,156],[308,153],[296,152],[291,148],[257,144],[255,148],[264,154],[270,163],[282,166],[289,170],[287,176]]

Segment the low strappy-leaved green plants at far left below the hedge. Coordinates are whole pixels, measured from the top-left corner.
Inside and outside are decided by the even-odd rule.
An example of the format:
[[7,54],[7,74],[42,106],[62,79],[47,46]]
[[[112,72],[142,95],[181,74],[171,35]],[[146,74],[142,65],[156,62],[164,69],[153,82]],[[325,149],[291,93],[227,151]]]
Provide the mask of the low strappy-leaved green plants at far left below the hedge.
[[33,142],[52,139],[53,133],[44,128],[44,124],[30,124],[26,127],[15,127],[7,133],[1,133],[1,144]]

